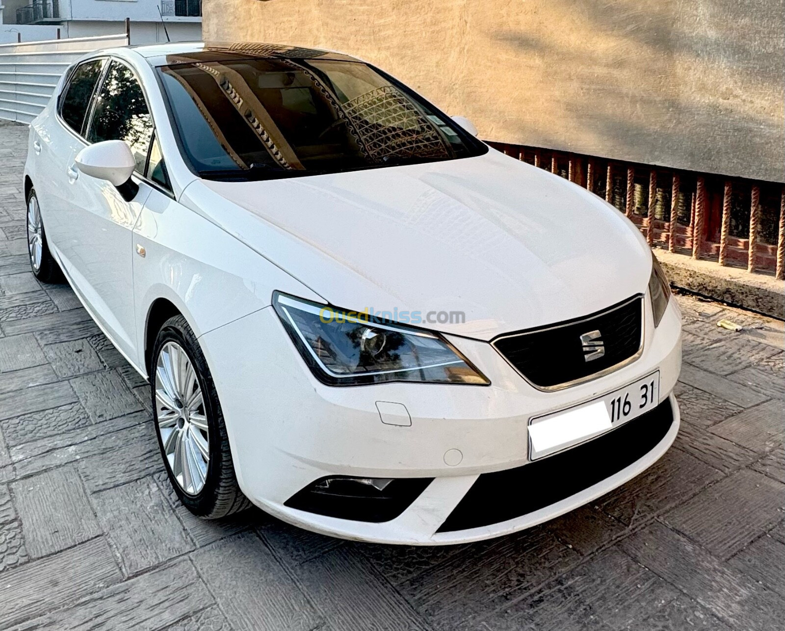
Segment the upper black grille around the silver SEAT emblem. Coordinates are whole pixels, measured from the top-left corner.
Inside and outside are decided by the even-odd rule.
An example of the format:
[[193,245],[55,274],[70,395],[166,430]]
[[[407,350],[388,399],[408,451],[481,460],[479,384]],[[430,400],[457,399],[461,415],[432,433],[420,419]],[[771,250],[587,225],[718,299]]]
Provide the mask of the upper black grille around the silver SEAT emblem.
[[[585,342],[581,336],[599,331]],[[641,350],[643,296],[567,322],[497,337],[492,344],[533,385],[546,390],[587,381]],[[601,345],[597,344],[601,342]],[[587,360],[602,348],[604,354]]]

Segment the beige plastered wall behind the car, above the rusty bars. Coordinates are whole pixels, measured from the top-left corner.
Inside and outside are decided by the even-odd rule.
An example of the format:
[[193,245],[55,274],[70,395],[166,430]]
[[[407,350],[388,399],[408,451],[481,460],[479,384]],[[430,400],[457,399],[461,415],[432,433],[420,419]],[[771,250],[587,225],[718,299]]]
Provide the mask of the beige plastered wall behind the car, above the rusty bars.
[[204,0],[206,39],[363,57],[480,137],[783,181],[783,0]]

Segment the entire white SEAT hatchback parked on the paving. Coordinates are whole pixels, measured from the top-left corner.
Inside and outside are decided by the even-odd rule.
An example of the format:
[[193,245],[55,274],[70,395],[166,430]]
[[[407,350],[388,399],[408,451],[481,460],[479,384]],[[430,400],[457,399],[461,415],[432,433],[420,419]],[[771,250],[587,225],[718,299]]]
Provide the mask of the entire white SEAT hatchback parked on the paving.
[[673,443],[681,316],[644,239],[474,133],[312,49],[110,49],[60,80],[24,173],[33,272],[149,378],[196,515],[469,542]]

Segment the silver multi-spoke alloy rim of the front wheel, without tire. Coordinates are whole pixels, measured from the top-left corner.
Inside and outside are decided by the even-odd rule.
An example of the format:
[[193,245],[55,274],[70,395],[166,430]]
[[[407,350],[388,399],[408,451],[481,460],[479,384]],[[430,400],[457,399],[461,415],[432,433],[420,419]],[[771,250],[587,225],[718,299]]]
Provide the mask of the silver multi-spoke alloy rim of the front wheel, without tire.
[[198,494],[210,464],[207,416],[191,359],[177,342],[166,342],[155,364],[155,410],[174,479],[185,493]]

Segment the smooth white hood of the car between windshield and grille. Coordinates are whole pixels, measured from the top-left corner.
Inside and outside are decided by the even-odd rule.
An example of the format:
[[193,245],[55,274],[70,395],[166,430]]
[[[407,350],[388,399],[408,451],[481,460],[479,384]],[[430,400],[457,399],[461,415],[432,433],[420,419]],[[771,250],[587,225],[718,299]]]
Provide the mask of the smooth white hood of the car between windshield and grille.
[[622,213],[494,150],[283,180],[198,180],[181,202],[331,305],[420,312],[421,326],[483,340],[614,305],[644,292],[651,270]]

